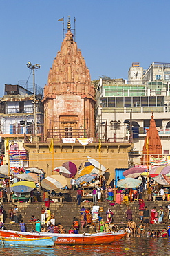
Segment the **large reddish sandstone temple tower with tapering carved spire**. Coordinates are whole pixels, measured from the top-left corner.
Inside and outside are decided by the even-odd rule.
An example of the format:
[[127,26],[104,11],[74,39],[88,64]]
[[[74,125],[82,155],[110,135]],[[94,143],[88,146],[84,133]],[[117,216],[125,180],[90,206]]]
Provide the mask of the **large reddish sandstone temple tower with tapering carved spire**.
[[89,69],[74,42],[69,20],[44,87],[45,137],[93,137],[94,95]]

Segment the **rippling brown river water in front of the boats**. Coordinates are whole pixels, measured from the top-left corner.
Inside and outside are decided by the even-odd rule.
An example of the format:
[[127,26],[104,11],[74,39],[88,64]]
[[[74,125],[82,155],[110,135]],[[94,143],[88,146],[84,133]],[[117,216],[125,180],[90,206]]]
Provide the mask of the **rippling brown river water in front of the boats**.
[[98,246],[54,246],[52,248],[1,247],[1,255],[26,256],[102,256],[102,255],[170,255],[170,237],[123,238],[116,244]]

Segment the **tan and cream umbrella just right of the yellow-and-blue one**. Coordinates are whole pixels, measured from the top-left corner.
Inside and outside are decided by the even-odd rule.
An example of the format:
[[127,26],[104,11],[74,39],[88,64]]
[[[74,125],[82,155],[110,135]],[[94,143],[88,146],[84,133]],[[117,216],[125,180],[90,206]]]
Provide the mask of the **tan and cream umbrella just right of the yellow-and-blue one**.
[[46,190],[57,190],[64,188],[67,185],[67,180],[61,175],[50,175],[41,181],[41,187]]

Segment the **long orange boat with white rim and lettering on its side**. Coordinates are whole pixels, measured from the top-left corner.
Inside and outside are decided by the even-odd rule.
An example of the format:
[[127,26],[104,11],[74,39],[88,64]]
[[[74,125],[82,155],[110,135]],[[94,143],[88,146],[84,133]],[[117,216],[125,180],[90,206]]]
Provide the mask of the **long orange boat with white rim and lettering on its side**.
[[0,230],[1,237],[56,237],[54,244],[111,244],[120,240],[125,233],[93,233],[93,234],[56,234],[44,232],[18,232],[13,230]]

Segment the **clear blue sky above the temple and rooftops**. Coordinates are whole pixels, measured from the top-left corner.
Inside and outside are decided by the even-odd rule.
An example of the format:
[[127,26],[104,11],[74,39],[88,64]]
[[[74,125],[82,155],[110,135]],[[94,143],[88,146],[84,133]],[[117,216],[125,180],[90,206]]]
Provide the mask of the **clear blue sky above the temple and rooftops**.
[[4,84],[32,83],[28,61],[41,65],[35,80],[45,86],[63,41],[62,17],[65,28],[69,16],[74,28],[76,17],[76,42],[92,80],[127,79],[132,62],[145,69],[170,62],[169,10],[169,0],[0,0],[0,96]]

